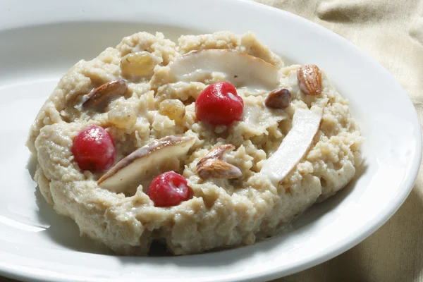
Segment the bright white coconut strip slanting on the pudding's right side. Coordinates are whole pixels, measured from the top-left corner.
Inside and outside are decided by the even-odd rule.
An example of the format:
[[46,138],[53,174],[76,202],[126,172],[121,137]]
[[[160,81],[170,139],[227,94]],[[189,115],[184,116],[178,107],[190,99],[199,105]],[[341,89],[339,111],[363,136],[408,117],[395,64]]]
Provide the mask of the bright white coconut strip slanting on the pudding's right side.
[[322,111],[297,109],[293,117],[293,128],[283,139],[278,150],[264,162],[262,173],[278,185],[305,156],[313,138],[320,128]]

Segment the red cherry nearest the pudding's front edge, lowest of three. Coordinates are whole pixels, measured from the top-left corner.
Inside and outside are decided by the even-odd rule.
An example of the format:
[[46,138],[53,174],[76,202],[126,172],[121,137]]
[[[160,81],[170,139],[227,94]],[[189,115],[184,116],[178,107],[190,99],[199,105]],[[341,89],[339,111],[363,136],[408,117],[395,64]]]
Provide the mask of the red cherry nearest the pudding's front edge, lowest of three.
[[185,177],[174,171],[161,173],[149,185],[148,196],[156,207],[177,206],[190,199],[192,190]]

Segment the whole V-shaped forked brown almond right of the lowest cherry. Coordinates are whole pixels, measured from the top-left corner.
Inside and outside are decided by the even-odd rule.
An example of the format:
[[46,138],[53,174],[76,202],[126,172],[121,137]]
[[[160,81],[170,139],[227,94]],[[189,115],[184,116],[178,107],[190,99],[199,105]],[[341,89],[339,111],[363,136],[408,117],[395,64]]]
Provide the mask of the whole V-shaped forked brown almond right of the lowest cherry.
[[226,144],[212,149],[197,164],[197,174],[202,179],[207,178],[238,178],[243,175],[240,168],[222,161],[223,154],[232,151],[235,146]]

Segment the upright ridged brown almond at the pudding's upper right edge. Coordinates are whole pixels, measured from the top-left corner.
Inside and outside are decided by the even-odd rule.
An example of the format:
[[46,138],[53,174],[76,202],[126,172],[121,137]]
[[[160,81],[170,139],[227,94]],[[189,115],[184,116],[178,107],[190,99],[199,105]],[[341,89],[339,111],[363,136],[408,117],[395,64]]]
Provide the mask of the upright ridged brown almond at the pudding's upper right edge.
[[300,66],[297,71],[298,86],[307,95],[321,94],[321,71],[316,65]]

